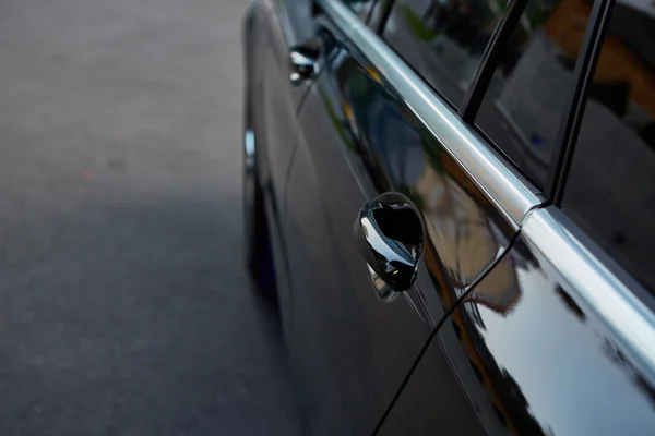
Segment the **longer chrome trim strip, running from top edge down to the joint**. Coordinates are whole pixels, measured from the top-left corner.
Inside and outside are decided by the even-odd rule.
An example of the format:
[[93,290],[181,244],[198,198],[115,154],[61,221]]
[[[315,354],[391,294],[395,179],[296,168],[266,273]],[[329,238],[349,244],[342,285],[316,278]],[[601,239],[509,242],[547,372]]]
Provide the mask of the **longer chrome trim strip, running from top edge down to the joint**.
[[334,24],[380,71],[416,117],[441,142],[485,195],[517,229],[541,201],[510,171],[422,78],[368,28],[344,3],[317,0]]

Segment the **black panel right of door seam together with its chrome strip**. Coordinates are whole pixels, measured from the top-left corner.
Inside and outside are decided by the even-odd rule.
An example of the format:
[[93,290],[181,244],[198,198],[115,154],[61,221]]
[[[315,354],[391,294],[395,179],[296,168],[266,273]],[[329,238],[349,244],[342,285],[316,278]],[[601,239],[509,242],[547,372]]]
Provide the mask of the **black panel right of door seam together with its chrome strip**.
[[607,280],[611,272],[575,234],[553,207],[528,215],[521,238],[444,323],[381,435],[442,428],[434,410],[448,407],[448,373],[469,400],[449,410],[463,423],[479,420],[489,435],[653,432],[653,354],[643,351],[654,330],[635,328],[648,318],[653,326],[653,314],[622,301],[617,289],[636,283]]

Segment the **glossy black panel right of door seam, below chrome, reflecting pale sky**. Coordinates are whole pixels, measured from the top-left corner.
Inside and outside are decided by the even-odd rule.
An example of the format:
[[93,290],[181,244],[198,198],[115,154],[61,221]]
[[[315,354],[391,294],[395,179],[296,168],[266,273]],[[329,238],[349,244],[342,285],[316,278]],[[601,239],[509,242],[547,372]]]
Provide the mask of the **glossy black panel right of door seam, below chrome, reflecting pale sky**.
[[[450,413],[475,416],[493,435],[655,428],[654,380],[524,238],[464,298],[430,348],[381,434],[429,433]],[[448,367],[432,358],[437,350]],[[456,411],[443,396],[451,376],[469,400]]]

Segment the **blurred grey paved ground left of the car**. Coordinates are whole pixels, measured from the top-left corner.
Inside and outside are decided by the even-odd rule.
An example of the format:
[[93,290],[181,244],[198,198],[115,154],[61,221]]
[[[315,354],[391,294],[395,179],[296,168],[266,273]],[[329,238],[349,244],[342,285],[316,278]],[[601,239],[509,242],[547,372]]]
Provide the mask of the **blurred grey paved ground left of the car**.
[[0,434],[290,435],[241,267],[246,0],[0,0]]

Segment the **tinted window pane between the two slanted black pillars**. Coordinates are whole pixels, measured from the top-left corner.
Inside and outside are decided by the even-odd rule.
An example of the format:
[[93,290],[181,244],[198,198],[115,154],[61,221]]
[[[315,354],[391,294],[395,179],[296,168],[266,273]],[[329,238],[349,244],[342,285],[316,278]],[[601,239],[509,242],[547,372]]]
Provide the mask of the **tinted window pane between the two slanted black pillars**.
[[528,0],[475,120],[539,189],[548,178],[591,10],[586,0]]

